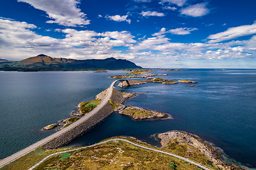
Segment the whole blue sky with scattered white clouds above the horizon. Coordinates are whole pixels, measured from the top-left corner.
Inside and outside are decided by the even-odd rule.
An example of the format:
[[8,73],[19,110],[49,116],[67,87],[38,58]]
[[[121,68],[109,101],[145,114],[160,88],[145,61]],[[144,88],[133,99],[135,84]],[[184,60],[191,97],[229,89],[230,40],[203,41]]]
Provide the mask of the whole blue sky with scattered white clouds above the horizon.
[[0,0],[0,58],[256,69],[255,0]]

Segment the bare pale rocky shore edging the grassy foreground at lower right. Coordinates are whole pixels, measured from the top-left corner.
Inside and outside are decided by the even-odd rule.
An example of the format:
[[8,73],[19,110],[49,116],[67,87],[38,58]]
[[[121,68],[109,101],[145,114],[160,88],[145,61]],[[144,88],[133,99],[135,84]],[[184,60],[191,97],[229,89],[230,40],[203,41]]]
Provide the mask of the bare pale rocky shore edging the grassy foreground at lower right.
[[[220,152],[219,149],[211,145],[209,142],[201,140],[200,137],[197,135],[193,135],[188,132],[173,130],[170,132],[164,132],[159,135],[157,135],[159,139],[161,140],[161,146],[162,147],[168,147],[169,145],[191,145],[192,147],[199,150],[199,152],[202,152],[206,157],[208,157],[211,162],[210,164],[214,164],[220,169],[227,169],[227,170],[235,170],[235,169],[241,169],[239,166],[236,166],[235,164],[225,164],[221,161],[221,158],[223,157],[223,153]],[[189,149],[187,150],[189,151]]]

